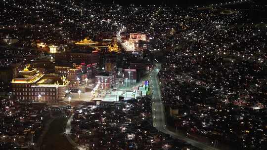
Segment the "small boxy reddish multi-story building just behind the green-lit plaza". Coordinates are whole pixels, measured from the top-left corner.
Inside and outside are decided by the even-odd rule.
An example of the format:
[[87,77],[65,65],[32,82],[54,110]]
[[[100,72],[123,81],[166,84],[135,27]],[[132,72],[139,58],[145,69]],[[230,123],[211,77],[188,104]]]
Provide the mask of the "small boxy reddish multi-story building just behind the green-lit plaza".
[[116,83],[115,72],[102,72],[95,75],[95,84],[99,84],[101,89],[109,89]]

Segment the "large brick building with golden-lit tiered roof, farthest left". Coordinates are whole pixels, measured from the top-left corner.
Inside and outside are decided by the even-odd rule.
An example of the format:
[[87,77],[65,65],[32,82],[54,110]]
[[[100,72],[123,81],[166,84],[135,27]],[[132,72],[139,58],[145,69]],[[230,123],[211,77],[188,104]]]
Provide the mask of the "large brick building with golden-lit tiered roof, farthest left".
[[36,100],[56,103],[65,97],[69,81],[64,76],[43,75],[39,70],[26,66],[11,81],[13,96],[18,100]]

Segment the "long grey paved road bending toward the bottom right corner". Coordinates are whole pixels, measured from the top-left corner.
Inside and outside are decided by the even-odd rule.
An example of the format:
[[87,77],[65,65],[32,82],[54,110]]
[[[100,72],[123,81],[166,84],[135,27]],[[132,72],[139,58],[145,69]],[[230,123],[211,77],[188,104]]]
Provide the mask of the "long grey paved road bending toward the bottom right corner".
[[157,74],[160,70],[160,65],[157,64],[158,69],[155,69],[151,72],[150,80],[152,81],[152,113],[153,113],[153,126],[156,127],[159,131],[162,131],[166,134],[169,134],[175,138],[181,139],[186,141],[187,143],[191,144],[192,146],[195,146],[197,148],[200,148],[202,150],[218,150],[214,147],[205,145],[204,143],[197,142],[195,140],[189,139],[184,137],[183,135],[179,133],[175,133],[173,131],[170,131],[166,127],[165,122],[165,111],[163,107],[163,103],[161,101],[161,93],[160,93],[160,87],[159,87],[159,81],[157,78]]

